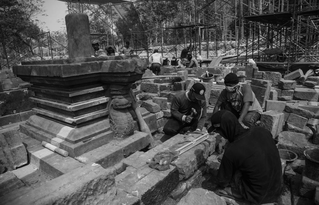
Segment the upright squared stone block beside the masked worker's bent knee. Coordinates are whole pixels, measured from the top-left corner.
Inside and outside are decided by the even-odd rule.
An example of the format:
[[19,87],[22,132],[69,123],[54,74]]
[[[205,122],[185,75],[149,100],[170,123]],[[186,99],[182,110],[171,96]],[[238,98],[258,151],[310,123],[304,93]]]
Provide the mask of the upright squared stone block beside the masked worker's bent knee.
[[277,111],[266,111],[261,114],[260,126],[268,129],[273,138],[282,131],[282,124],[284,122],[284,113]]

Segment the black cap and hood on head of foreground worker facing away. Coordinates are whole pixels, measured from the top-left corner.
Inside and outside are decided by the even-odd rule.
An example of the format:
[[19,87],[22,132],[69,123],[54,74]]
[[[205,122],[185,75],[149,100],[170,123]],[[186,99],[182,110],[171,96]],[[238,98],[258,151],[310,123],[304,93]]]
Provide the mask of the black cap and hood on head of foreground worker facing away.
[[230,143],[234,142],[236,137],[245,133],[248,129],[241,126],[236,116],[228,110],[221,110],[211,116],[211,128],[221,130],[223,137]]

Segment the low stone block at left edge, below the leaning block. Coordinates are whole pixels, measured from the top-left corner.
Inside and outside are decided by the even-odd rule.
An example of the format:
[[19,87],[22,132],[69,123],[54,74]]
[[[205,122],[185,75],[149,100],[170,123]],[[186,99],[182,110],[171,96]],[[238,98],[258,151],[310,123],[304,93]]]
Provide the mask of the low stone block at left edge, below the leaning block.
[[24,186],[26,185],[13,172],[0,174],[0,197]]

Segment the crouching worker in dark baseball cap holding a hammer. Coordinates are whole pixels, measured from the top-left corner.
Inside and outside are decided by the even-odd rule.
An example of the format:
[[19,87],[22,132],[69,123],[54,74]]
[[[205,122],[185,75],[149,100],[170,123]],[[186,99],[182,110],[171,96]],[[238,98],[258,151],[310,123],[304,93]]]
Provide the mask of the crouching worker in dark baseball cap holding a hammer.
[[[195,83],[189,91],[175,94],[171,104],[172,118],[167,121],[163,131],[166,135],[174,136],[186,127],[189,131],[201,132],[206,121],[205,87]],[[192,116],[192,108],[197,112]]]

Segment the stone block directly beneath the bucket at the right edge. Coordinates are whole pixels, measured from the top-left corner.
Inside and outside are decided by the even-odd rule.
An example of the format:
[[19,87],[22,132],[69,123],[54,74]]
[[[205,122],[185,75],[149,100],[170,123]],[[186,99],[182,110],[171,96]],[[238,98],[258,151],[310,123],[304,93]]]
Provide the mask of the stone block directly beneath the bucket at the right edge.
[[313,199],[313,197],[315,196],[316,187],[319,187],[319,181],[309,179],[305,174],[304,168],[301,174],[299,194],[309,199]]

